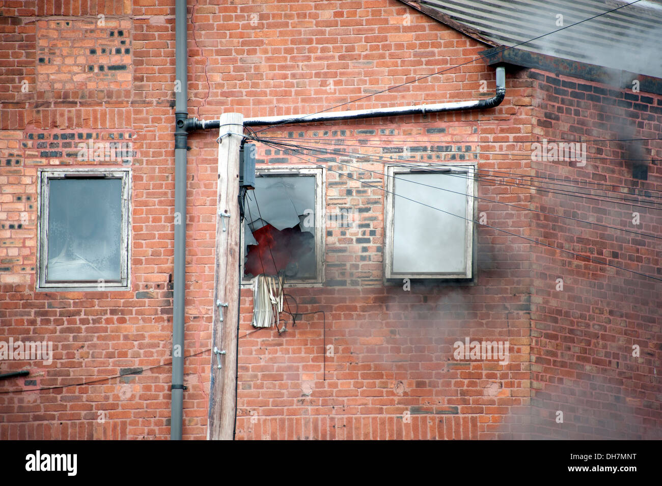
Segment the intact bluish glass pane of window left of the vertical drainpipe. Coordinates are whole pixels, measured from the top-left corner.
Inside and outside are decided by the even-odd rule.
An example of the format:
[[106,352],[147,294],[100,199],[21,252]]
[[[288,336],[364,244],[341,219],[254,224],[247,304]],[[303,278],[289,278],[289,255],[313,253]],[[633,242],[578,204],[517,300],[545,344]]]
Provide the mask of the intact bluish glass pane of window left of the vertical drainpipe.
[[121,179],[48,181],[46,280],[120,280]]

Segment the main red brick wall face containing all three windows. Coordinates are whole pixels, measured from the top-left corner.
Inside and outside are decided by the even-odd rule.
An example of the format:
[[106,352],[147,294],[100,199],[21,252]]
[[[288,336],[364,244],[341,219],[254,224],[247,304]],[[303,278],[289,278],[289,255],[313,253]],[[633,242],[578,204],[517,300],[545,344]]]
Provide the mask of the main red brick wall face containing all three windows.
[[[7,226],[0,227],[0,267],[9,268],[0,268],[0,339],[39,335],[53,341],[55,350],[50,366],[0,362],[1,372],[31,372],[27,379],[0,382],[0,392],[11,391],[0,394],[0,437],[167,438],[174,8],[172,2],[156,0],[105,2],[102,7],[91,2],[62,4],[48,3],[36,11],[34,2],[26,2],[23,9],[3,7],[5,17],[0,17],[3,32],[12,34],[3,42],[29,44],[2,49],[21,54],[1,60],[3,67],[16,73],[7,81],[10,91],[0,91],[0,223]],[[62,37],[75,39],[75,32],[99,19],[99,14],[105,15],[105,26],[97,25],[93,31],[98,36],[89,36],[95,39],[97,53],[118,38],[121,28],[129,54],[124,54],[122,45],[121,59],[101,61],[98,54],[91,58],[93,47],[84,46],[87,57],[74,58],[71,66],[95,66],[93,71],[78,73],[88,84],[84,89],[63,85],[59,93],[56,83],[73,82],[75,74],[65,69],[40,71],[42,56],[36,53],[53,48],[52,56],[59,56],[63,49],[79,46],[66,40],[70,44],[56,47],[54,36],[44,30],[60,22],[56,28],[66,33]],[[189,114],[204,119],[218,118],[228,110],[246,117],[314,112],[463,63],[483,49],[395,0],[246,1],[222,6],[198,2],[189,5],[189,17],[193,20],[189,22]],[[113,30],[116,34],[111,38]],[[127,69],[111,71],[117,76],[111,78],[109,71],[99,71],[102,62],[123,64]],[[35,80],[35,73],[44,77]],[[130,77],[128,87],[126,79],[119,77],[122,73]],[[63,77],[58,81],[56,75]],[[16,91],[24,78],[30,85],[29,96]],[[488,83],[487,92],[481,91],[482,80]],[[493,80],[493,69],[477,61],[340,109],[488,97]],[[540,90],[535,91],[533,83],[526,73],[509,75],[506,100],[484,112],[288,126],[263,134],[287,137],[292,132],[297,137],[344,143],[379,139],[385,147],[416,147],[410,159],[424,161],[451,160],[454,154],[439,148],[444,145],[462,147],[461,151],[469,145],[469,152],[478,147],[481,152],[516,151],[522,145],[515,142],[531,140],[532,130],[540,132],[532,108]],[[39,91],[45,86],[53,93]],[[369,130],[375,130],[375,135]],[[132,135],[136,151],[131,162],[130,292],[35,292],[36,169],[76,162],[66,155],[63,133],[91,133],[95,140],[97,136],[103,140],[120,132]],[[191,357],[185,360],[185,438],[206,436],[217,136],[198,132],[188,143],[185,356]],[[60,145],[48,147],[44,156],[40,142]],[[381,152],[379,147],[343,148],[370,155],[402,155]],[[260,144],[258,157],[265,165],[283,158],[287,163],[301,163]],[[10,165],[5,165],[5,159],[10,159]],[[526,157],[481,153],[475,160],[479,169],[531,169]],[[530,417],[527,405],[532,387],[551,382],[540,372],[532,382],[530,370],[531,312],[537,312],[538,323],[547,319],[540,317],[547,313],[535,302],[544,286],[540,272],[532,272],[532,264],[539,263],[531,261],[532,245],[477,225],[474,282],[412,284],[410,292],[401,285],[384,286],[383,193],[348,182],[330,170],[351,170],[353,177],[383,187],[379,173],[384,167],[349,162],[360,165],[359,171],[341,162],[344,159],[336,157],[326,172],[326,208],[363,208],[359,227],[344,235],[340,229],[327,233],[325,286],[288,290],[298,303],[298,312],[324,311],[326,331],[319,313],[305,315],[296,327],[288,325],[283,335],[273,329],[255,331],[250,326],[252,292],[242,290],[237,437],[495,438],[513,431],[524,433],[521,425],[510,427],[511,416],[525,410]],[[481,181],[479,196],[486,200],[477,202],[477,214],[484,212],[487,224],[518,235],[532,234],[527,212],[504,210],[489,201],[536,204],[530,188]],[[28,214],[26,227],[10,228],[23,213]],[[542,258],[544,253],[534,255]],[[293,302],[289,300],[296,305]],[[326,364],[324,335],[326,344],[334,346],[334,356],[327,356]],[[510,364],[455,362],[453,343],[465,337],[508,339]],[[532,352],[534,358],[536,353],[544,354],[542,344],[538,346]]]

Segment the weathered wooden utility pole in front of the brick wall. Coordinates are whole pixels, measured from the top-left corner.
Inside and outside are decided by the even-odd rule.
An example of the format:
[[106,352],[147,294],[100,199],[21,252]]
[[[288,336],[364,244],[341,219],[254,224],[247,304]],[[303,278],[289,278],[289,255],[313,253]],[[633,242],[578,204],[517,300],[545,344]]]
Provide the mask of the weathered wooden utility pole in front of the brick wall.
[[[240,113],[220,116],[212,372],[207,438],[232,440],[236,401],[239,316],[239,149],[244,133]],[[220,366],[220,368],[219,368]]]

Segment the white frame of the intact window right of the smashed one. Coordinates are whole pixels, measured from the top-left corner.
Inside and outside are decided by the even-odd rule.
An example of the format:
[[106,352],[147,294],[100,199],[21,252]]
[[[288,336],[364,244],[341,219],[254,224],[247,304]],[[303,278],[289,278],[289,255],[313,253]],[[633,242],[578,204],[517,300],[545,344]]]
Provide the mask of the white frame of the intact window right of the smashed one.
[[[402,165],[387,167],[387,181],[385,185],[387,192],[384,201],[384,227],[385,227],[385,240],[384,240],[384,280],[402,279],[402,278],[428,278],[428,279],[462,279],[471,280],[473,278],[474,269],[474,249],[475,249],[475,231],[474,227],[474,214],[476,212],[476,201],[474,195],[477,192],[477,182],[475,181],[477,163],[417,163],[415,167],[402,167]],[[465,247],[465,271],[464,272],[444,272],[444,273],[424,273],[424,272],[393,272],[393,215],[394,204],[398,196],[393,194],[394,177],[399,174],[409,173],[444,173],[451,171],[451,173],[458,173],[455,177],[466,177],[466,193],[467,205],[465,218],[465,235],[467,246]],[[460,176],[460,173],[465,173]],[[434,184],[431,184],[434,185]],[[443,199],[445,191],[439,189],[440,201]],[[436,206],[437,208],[444,209],[442,204]]]

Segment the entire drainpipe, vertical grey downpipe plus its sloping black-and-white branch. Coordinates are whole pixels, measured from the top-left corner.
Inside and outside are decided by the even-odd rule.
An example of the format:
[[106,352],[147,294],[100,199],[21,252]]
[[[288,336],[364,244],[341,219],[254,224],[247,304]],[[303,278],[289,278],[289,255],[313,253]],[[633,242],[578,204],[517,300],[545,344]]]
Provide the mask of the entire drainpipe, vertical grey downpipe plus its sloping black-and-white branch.
[[[170,440],[181,440],[184,400],[184,284],[186,263],[186,165],[189,132],[220,128],[220,120],[198,120],[188,115],[187,84],[187,17],[186,1],[175,0],[175,79],[181,89],[175,91],[175,268],[173,271],[173,322],[172,322],[172,382],[170,407]],[[489,99],[457,101],[437,104],[418,104],[375,110],[350,110],[319,112],[315,114],[264,116],[244,118],[244,126],[281,125],[293,123],[332,122],[359,120],[378,116],[398,116],[451,112],[460,110],[484,110],[500,104],[506,95],[506,72],[496,67],[496,94]]]

